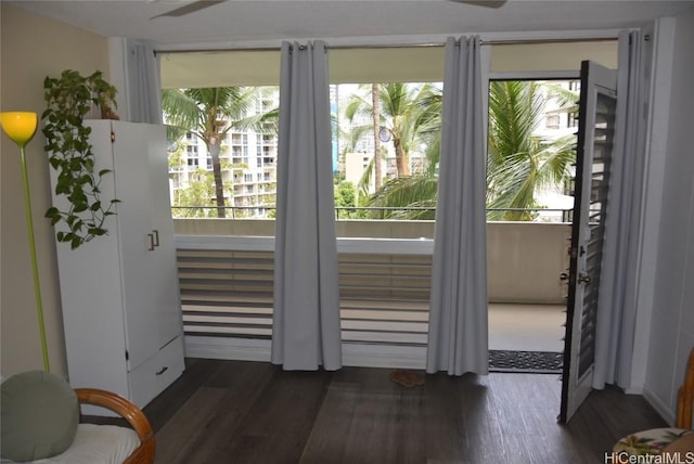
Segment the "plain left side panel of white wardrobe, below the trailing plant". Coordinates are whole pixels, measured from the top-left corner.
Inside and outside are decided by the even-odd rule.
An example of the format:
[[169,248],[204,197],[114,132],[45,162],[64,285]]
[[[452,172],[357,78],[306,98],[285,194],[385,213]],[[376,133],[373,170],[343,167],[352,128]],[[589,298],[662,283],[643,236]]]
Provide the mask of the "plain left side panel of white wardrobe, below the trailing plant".
[[[103,120],[87,124],[91,128],[94,170],[113,171],[104,176],[100,183],[102,199],[108,202],[118,196],[111,142],[112,126]],[[51,181],[55,189],[56,175],[53,169]],[[53,204],[61,209],[66,208],[62,195],[54,196]],[[70,249],[67,243],[57,243],[56,253],[70,385],[75,388],[103,388],[127,397],[119,219],[118,216],[112,216],[106,220],[107,235],[95,237],[77,249]]]

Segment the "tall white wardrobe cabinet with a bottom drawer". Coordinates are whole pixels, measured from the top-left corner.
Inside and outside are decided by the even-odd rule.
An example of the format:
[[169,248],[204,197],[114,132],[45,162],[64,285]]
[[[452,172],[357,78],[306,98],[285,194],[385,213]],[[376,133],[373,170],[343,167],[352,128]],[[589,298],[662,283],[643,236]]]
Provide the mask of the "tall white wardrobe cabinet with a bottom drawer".
[[[113,171],[102,178],[102,198],[121,203],[106,235],[77,249],[56,244],[69,383],[115,391],[142,408],[184,369],[166,129],[88,125],[94,170]],[[55,177],[51,170],[53,191]],[[53,196],[59,209],[63,201]]]

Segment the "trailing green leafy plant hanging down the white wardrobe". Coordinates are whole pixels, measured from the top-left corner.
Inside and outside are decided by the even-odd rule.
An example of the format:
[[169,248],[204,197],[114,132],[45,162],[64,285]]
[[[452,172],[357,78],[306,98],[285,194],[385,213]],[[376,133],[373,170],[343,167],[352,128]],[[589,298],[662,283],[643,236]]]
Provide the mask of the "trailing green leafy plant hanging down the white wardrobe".
[[44,121],[46,152],[51,167],[57,172],[55,194],[67,198],[68,207],[51,207],[46,217],[51,224],[64,222],[66,230],[56,232],[59,242],[77,248],[93,237],[104,235],[104,222],[115,215],[116,198],[103,199],[100,184],[110,169],[94,171],[94,154],[89,143],[91,128],[85,118],[97,109],[103,119],[118,119],[116,88],[103,78],[101,72],[81,76],[66,69],[59,78],[43,80],[47,109]]

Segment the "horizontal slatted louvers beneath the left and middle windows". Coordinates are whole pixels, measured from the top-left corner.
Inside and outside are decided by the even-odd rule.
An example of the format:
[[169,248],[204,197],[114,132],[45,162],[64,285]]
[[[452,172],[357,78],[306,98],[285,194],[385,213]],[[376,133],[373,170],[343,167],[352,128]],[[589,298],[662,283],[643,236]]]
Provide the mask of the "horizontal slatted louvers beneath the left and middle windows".
[[[364,240],[343,240],[338,248],[343,340],[424,346],[432,243],[417,243],[421,254],[403,254],[397,252],[406,246],[402,241],[380,241],[365,253],[359,241]],[[178,241],[187,335],[269,339],[273,239],[210,242],[191,236]]]

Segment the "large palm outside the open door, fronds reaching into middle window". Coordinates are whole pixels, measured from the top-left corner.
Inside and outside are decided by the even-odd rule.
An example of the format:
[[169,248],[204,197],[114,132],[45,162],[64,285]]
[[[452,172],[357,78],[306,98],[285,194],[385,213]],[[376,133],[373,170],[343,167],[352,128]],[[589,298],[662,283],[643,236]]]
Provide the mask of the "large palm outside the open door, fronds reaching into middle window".
[[[545,107],[540,88],[558,98],[563,111],[574,108],[576,95],[557,86],[532,81],[490,83],[487,170],[490,220],[530,219],[531,215],[518,209],[536,207],[534,195],[538,190],[561,184],[570,176],[576,158],[574,136],[547,140],[532,134]],[[411,178],[388,181],[369,202],[370,206],[397,208],[387,210],[384,218],[435,217],[441,96],[440,91],[433,89],[420,102],[425,109],[421,113],[419,134],[427,144],[428,169]]]

